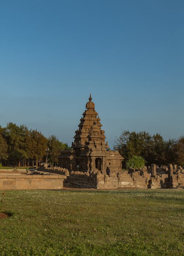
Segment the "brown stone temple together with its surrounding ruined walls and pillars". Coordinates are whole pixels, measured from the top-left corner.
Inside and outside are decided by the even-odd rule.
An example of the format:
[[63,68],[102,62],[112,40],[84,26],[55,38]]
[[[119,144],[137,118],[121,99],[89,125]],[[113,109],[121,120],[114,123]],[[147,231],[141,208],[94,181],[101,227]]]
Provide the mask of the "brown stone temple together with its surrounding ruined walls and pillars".
[[[86,110],[80,119],[79,129],[75,131],[72,150],[61,151],[59,167],[48,168],[46,164],[39,171],[67,176],[66,183],[76,187],[114,189],[120,187],[137,188],[184,188],[184,171],[181,166],[145,166],[140,170],[123,171],[124,159],[118,151],[109,150],[105,143],[105,131],[101,130],[98,113],[91,94]],[[106,169],[110,168],[107,174]]]

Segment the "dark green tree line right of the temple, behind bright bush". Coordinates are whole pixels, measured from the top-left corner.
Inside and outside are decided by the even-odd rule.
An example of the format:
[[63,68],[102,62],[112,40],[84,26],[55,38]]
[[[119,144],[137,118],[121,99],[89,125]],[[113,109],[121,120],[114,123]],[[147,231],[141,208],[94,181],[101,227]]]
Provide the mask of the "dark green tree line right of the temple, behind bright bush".
[[177,164],[184,167],[184,136],[164,140],[159,133],[151,135],[146,131],[125,130],[114,141],[114,150],[124,157],[124,167],[133,155],[144,157],[146,165]]

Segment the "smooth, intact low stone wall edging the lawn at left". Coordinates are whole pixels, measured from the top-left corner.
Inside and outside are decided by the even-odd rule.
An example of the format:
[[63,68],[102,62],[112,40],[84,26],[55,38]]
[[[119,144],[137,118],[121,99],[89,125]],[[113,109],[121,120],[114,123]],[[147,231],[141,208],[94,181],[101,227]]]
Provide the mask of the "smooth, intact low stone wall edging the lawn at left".
[[0,174],[0,189],[63,189],[65,175]]

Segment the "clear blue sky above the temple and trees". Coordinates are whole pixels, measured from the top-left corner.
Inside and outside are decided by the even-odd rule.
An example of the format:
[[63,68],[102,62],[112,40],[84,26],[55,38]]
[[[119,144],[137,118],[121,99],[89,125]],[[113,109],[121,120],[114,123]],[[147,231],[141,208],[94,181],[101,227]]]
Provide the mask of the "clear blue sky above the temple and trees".
[[184,134],[184,1],[0,0],[0,125],[71,145],[90,92],[110,147]]

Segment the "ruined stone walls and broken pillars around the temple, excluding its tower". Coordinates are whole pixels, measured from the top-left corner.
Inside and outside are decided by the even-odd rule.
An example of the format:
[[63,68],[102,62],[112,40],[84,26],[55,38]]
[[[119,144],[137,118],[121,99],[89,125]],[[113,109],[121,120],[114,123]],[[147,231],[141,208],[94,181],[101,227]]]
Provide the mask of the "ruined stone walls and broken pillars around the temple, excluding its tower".
[[[176,166],[175,166],[176,167]],[[53,167],[47,168],[46,164],[40,165],[38,170],[42,175],[46,172],[67,176],[64,181],[67,184],[80,188],[95,189],[116,189],[123,187],[135,187],[142,189],[184,189],[184,170],[181,166],[173,169],[173,165],[168,167],[158,167],[152,164],[151,168],[144,166],[136,170],[130,168],[129,171],[110,172],[109,175],[102,171],[80,172],[68,171],[66,168]],[[174,171],[175,170],[175,171]]]

